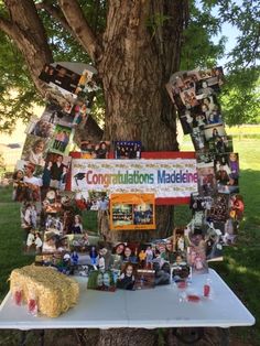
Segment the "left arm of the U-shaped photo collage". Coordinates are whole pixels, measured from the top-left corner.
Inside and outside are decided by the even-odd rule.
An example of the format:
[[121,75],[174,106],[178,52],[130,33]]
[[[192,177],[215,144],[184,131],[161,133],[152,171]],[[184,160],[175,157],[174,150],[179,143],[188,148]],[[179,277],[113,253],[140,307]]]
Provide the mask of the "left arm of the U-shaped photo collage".
[[74,246],[83,249],[89,244],[82,209],[75,195],[66,191],[66,183],[74,131],[90,110],[87,97],[77,94],[95,87],[93,76],[88,71],[78,75],[61,65],[44,66],[41,73],[40,78],[50,87],[55,85],[61,97],[46,105],[41,118],[30,119],[13,173],[12,199],[21,203],[25,253],[48,258],[56,253],[58,261]]

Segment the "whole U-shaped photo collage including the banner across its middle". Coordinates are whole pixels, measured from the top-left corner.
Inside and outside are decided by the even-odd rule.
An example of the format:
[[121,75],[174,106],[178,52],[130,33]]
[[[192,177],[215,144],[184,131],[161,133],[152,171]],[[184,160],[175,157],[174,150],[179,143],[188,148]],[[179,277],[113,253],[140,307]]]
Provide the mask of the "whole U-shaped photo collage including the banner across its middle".
[[[31,119],[13,175],[23,251],[35,253],[36,266],[87,277],[88,288],[101,291],[182,284],[192,274],[206,273],[207,262],[221,259],[223,248],[235,244],[243,214],[238,153],[218,100],[223,69],[171,77],[166,88],[195,153],[177,159],[167,153],[164,160],[131,139],[83,141],[77,148],[74,133],[90,113],[95,71],[47,65],[40,78],[55,100],[40,119]],[[189,224],[166,239],[112,241],[118,229],[155,229],[159,197],[189,203]],[[88,226],[93,214],[96,231]],[[100,223],[107,223],[108,231]]]

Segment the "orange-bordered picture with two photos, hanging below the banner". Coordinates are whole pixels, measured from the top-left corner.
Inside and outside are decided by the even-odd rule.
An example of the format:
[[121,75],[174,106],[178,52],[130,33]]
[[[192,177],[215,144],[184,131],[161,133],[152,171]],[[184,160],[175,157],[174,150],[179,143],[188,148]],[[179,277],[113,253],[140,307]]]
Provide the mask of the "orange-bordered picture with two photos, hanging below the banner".
[[153,194],[112,194],[110,196],[111,229],[154,229]]

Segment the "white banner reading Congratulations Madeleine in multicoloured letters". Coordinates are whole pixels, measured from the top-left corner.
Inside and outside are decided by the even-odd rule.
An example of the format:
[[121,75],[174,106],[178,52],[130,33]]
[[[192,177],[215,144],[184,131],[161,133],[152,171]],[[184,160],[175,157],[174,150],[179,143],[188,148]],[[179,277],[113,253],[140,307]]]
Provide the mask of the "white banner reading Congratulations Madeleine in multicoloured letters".
[[73,159],[72,190],[106,191],[109,195],[153,193],[155,198],[189,197],[197,191],[196,160]]

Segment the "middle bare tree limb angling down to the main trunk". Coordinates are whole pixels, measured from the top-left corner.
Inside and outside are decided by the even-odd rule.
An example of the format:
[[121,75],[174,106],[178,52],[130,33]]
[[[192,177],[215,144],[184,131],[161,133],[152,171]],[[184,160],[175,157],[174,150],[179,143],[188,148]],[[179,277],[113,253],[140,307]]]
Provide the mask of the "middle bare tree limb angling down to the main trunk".
[[68,25],[77,35],[78,42],[86,50],[93,62],[96,62],[101,54],[101,47],[98,44],[98,40],[91,28],[86,21],[79,3],[76,0],[58,0],[58,3]]

